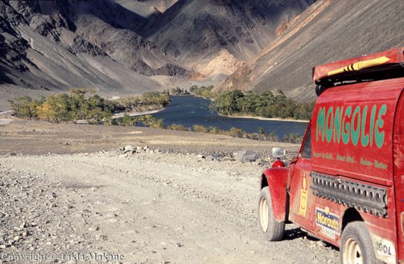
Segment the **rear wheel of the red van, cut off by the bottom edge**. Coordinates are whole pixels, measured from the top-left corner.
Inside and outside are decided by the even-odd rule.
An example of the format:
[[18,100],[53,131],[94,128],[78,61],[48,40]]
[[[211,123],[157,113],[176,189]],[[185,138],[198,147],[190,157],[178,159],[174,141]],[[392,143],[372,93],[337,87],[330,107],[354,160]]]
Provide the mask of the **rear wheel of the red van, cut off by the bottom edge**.
[[353,221],[343,230],[340,259],[343,264],[381,263],[375,257],[371,236],[364,222]]

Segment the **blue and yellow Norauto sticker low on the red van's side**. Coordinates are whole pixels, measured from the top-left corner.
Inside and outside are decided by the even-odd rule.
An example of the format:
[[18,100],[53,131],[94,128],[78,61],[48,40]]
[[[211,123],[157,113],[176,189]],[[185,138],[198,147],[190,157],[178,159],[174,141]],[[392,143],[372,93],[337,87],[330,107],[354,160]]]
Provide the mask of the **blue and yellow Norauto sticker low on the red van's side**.
[[315,207],[315,225],[319,226],[322,233],[335,240],[336,235],[340,235],[340,217],[329,212],[329,207],[324,209]]

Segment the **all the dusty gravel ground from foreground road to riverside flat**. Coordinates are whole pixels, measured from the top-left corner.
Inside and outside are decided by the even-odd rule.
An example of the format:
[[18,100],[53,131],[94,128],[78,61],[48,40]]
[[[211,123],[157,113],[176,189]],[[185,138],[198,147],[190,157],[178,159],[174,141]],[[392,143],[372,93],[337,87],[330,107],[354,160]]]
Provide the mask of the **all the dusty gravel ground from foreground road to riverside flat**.
[[[117,153],[127,144],[179,153]],[[272,145],[137,128],[0,126],[0,258],[337,263],[337,249],[292,224],[281,242],[260,235],[256,207],[263,166],[197,156],[246,148],[264,155]]]

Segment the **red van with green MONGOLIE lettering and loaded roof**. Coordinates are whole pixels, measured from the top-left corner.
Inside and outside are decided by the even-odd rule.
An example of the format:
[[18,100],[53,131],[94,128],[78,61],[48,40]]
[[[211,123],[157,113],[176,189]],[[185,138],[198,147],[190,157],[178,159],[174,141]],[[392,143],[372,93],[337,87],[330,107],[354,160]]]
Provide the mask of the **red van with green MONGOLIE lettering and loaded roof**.
[[404,263],[403,58],[396,48],[313,69],[318,98],[299,154],[260,180],[268,240],[292,221],[339,247],[341,263]]

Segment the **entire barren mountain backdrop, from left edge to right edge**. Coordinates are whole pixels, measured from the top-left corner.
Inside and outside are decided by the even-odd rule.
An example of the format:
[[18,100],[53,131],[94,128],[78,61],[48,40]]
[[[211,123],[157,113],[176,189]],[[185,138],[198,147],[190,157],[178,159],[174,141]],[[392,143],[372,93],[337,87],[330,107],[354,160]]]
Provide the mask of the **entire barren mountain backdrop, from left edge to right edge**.
[[0,94],[199,82],[306,100],[313,66],[403,45],[403,17],[400,0],[2,0]]

